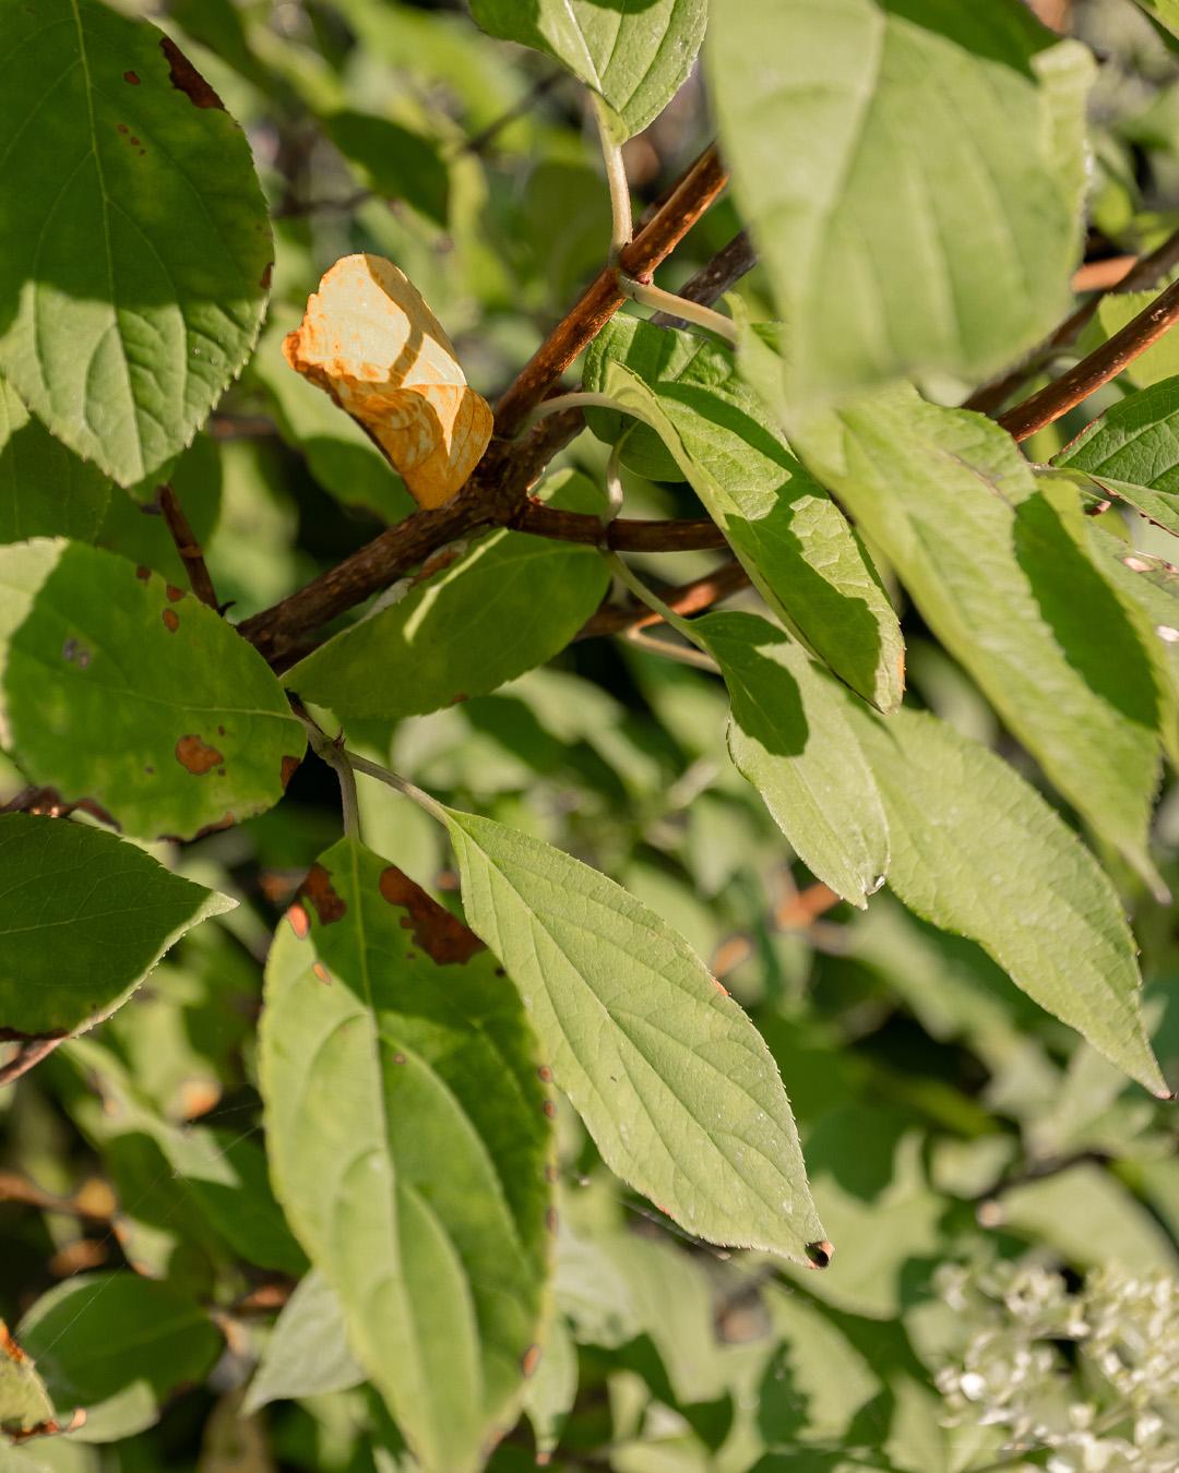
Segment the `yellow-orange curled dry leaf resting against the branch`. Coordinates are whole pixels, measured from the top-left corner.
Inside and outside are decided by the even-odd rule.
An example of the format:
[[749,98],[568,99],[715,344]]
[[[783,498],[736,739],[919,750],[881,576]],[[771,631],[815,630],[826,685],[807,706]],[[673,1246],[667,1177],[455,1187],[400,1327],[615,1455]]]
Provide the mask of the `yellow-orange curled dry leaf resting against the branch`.
[[479,464],[491,407],[467,384],[442,324],[392,261],[337,261],[284,337],[283,355],[368,430],[420,507],[449,501]]

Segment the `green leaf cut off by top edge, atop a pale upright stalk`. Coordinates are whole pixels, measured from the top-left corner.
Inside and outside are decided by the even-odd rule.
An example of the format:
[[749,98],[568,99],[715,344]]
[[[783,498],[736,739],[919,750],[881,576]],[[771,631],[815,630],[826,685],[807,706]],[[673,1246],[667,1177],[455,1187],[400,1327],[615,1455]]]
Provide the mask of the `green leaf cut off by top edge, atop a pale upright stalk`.
[[485,31],[547,52],[613,113],[620,141],[641,133],[668,106],[704,38],[706,0],[472,0]]

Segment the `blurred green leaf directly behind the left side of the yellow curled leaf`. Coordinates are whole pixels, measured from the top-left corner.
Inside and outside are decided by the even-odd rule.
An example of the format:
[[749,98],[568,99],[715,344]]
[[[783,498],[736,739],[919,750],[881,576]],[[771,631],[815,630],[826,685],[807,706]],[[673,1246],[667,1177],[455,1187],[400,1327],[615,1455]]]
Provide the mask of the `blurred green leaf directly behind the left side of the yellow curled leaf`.
[[271,399],[283,440],[307,457],[311,474],[342,505],[401,521],[417,508],[405,483],[360,424],[292,370],[281,354],[283,336],[281,327],[267,327],[249,365],[251,379],[259,380]]

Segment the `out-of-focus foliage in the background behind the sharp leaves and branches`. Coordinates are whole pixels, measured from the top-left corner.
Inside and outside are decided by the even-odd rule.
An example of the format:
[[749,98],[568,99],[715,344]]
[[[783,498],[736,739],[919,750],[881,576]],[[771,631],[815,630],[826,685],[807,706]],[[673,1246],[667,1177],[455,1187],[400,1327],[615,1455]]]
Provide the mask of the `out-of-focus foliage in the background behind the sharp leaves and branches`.
[[[274,215],[261,346],[172,474],[220,595],[245,617],[411,505],[363,433],[279,354],[321,271],[352,250],[392,258],[494,399],[606,256],[594,124],[576,82],[482,35],[458,4],[119,9],[174,35],[223,96]],[[1089,256],[1150,249],[1179,221],[1176,56],[1126,0],[1077,0],[1074,24],[1104,62]],[[637,197],[654,200],[709,137],[693,80],[625,147]],[[710,211],[663,284],[737,224],[727,203]],[[769,315],[756,270],[740,292]],[[1033,458],[1079,427],[1070,415],[1045,432]],[[604,458],[581,436],[561,464],[600,485]],[[635,516],[700,514],[681,483],[628,473],[626,498]],[[115,489],[102,541],[181,580],[150,498]],[[675,583],[710,558],[637,563]],[[905,630],[918,700],[1036,781],[911,611]],[[837,1243],[816,1274],[687,1240],[619,1187],[563,1114],[559,1323],[528,1418],[492,1467],[538,1455],[622,1473],[1045,1466],[1045,1452],[1011,1451],[1020,1439],[1052,1441],[1058,1470],[1179,1466],[1173,1112],[976,946],[884,894],[867,915],[831,906],[732,770],[725,716],[710,676],[628,641],[585,639],[494,695],[349,731],[445,801],[601,866],[693,943],[778,1061]],[[19,785],[4,770],[0,800]],[[367,843],[454,903],[430,820],[370,784],[361,804]],[[335,779],[308,762],[280,807],[169,850],[174,868],[242,907],[187,937],[97,1034],[0,1096],[3,1314],[15,1324],[37,1304],[24,1340],[38,1363],[108,1398],[87,1427],[0,1452],[0,1469],[413,1466],[335,1354],[337,1329],[333,1340],[314,1315],[299,1342],[307,1395],[242,1411],[274,1311],[305,1267],[258,1134],[261,960],[337,832]],[[1155,838],[1179,888],[1175,788]],[[1154,1044],[1176,1083],[1175,913],[1102,859],[1135,897]],[[211,1321],[156,1336],[141,1363],[116,1354],[149,1309],[159,1324],[143,1296],[172,1292],[196,1295]],[[105,1312],[87,1318],[99,1295]]]

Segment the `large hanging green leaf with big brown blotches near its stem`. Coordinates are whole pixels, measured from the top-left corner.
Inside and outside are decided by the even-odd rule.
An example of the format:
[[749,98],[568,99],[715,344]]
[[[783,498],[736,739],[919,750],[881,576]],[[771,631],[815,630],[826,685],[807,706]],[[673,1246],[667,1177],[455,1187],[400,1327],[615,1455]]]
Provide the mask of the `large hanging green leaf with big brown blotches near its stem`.
[[276,1189],[419,1460],[466,1473],[535,1361],[547,1071],[495,959],[401,871],[342,840],[302,896],[262,1012]]

